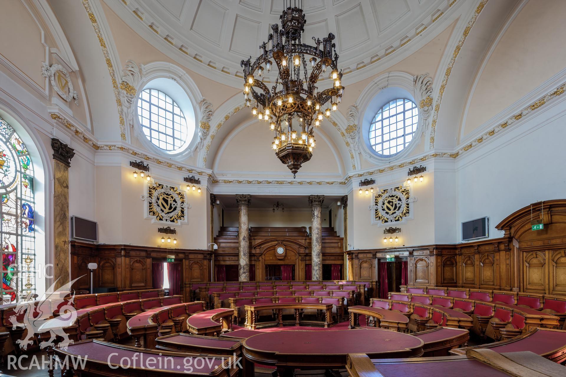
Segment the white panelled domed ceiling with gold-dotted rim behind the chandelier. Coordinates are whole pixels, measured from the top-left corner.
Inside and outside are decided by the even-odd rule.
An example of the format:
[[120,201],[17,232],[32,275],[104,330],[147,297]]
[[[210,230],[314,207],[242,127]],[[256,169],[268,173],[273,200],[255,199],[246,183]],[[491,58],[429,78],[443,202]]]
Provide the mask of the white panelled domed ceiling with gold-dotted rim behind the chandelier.
[[[290,2],[293,6],[298,3]],[[322,39],[328,33],[335,34],[339,66],[349,73],[362,70],[401,47],[410,48],[411,41],[417,44],[417,36],[424,31],[430,33],[435,21],[447,19],[448,13],[453,13],[464,0],[302,3],[307,20],[303,41],[313,44],[312,37]],[[109,4],[126,23],[136,23],[138,27],[145,24],[146,34],[152,29],[161,42],[165,40],[177,47],[175,54],[181,51],[218,73],[239,78],[241,60],[250,56],[255,59],[259,45],[268,39],[271,25],[281,23],[284,0],[109,0]],[[437,24],[440,22],[434,26]]]

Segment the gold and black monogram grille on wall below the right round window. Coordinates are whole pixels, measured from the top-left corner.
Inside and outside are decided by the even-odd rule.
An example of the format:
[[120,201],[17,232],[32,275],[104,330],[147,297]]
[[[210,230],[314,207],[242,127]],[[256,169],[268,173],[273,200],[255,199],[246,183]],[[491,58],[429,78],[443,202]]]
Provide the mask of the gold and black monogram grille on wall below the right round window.
[[374,197],[375,222],[381,224],[404,222],[411,215],[413,201],[409,187],[403,185],[379,190]]

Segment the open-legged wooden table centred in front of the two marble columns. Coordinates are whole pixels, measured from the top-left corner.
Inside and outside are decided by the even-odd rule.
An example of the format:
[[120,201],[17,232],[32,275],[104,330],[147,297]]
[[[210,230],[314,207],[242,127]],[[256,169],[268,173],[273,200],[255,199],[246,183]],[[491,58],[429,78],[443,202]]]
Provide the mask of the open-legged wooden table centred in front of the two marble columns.
[[314,309],[314,310],[322,310],[325,312],[324,315],[324,322],[320,321],[305,321],[303,323],[308,324],[323,324],[325,328],[332,326],[332,306],[333,304],[321,304],[316,302],[273,302],[269,303],[266,302],[264,304],[250,304],[245,305],[244,310],[246,310],[246,323],[245,327],[250,330],[255,330],[259,325],[259,312],[261,310],[275,310],[277,312],[277,320],[271,322],[264,322],[261,323],[263,326],[273,326],[274,324],[277,326],[283,326],[283,319],[282,319],[282,311],[283,309],[294,309],[295,310],[295,319],[293,321],[289,321],[293,323],[295,326],[300,326],[301,324],[301,311],[303,309]]

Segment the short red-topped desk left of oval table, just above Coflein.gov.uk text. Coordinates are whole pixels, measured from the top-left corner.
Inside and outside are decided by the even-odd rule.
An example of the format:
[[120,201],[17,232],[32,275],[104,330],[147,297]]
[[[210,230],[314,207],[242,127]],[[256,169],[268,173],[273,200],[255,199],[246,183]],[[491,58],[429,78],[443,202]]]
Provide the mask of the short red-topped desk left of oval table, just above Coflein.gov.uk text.
[[222,339],[216,336],[201,336],[178,333],[158,337],[157,349],[180,351],[183,353],[198,353],[207,355],[236,355],[242,353],[240,339]]

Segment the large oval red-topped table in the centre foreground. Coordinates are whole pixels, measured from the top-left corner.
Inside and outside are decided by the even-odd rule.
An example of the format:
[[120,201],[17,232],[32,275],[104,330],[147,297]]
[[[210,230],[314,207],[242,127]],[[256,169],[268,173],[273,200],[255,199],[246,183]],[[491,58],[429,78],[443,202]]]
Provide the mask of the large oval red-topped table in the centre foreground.
[[344,368],[351,352],[372,358],[418,357],[423,344],[417,337],[379,328],[265,332],[243,341],[244,375],[254,375],[254,363],[275,366],[280,376],[297,368]]

